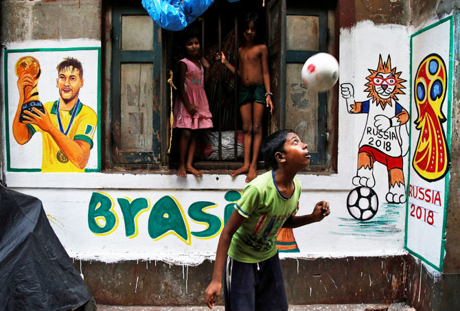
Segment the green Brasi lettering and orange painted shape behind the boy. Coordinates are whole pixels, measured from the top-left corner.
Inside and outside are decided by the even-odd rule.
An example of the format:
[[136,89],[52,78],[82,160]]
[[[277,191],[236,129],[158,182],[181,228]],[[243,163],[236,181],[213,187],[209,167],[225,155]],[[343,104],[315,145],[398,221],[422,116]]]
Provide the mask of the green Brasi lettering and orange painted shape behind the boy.
[[[233,212],[234,203],[241,198],[239,191],[231,190],[225,194],[225,200],[231,200],[225,206],[225,222]],[[238,198],[238,199],[237,199]],[[216,203],[198,201],[192,203],[187,214],[174,196],[163,196],[152,206],[148,198],[128,197],[117,198],[119,208],[122,210],[125,235],[135,238],[139,234],[137,219],[145,212],[150,211],[148,216],[148,235],[157,241],[166,235],[175,235],[183,243],[190,245],[191,238],[211,239],[217,237],[224,228],[225,222],[219,216],[212,213]],[[114,209],[115,200],[104,192],[93,192],[88,206],[88,228],[95,235],[109,235],[119,227],[120,217]],[[205,225],[201,231],[192,231],[189,220],[196,224]],[[53,219],[50,219],[53,221]],[[283,228],[278,233],[278,245],[280,253],[299,252],[292,229]]]

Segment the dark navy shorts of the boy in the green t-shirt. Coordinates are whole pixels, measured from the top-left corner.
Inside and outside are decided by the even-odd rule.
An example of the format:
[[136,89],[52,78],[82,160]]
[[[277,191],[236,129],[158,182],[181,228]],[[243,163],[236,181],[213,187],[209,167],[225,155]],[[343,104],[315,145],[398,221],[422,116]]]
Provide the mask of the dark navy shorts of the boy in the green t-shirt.
[[227,256],[224,273],[225,311],[288,310],[278,253],[258,264]]

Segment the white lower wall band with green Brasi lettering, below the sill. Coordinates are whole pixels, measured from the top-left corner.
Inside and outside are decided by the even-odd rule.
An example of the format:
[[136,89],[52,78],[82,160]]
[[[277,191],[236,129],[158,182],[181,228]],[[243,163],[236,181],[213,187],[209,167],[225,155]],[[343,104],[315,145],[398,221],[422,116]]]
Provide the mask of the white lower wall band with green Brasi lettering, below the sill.
[[[20,191],[41,198],[51,226],[71,257],[102,262],[162,260],[174,264],[214,260],[225,213],[233,209],[230,200],[241,196],[235,190],[23,188]],[[334,217],[323,223],[281,231],[277,238],[280,256],[394,255],[403,251],[401,224],[393,222],[392,229],[391,225],[363,227],[359,234],[343,227],[341,219],[347,216],[347,211],[338,207],[343,206],[345,195],[345,192],[332,194],[318,190],[303,192],[299,215],[311,213],[314,203],[327,197],[335,207]],[[320,232],[321,239],[314,238]]]

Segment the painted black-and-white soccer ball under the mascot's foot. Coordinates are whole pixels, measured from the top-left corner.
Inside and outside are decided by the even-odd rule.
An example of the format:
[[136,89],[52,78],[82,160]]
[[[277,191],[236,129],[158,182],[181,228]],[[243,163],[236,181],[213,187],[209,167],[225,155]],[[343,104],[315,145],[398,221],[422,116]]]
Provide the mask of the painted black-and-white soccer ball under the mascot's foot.
[[357,220],[369,220],[376,216],[378,210],[378,197],[373,189],[356,187],[347,197],[349,214]]

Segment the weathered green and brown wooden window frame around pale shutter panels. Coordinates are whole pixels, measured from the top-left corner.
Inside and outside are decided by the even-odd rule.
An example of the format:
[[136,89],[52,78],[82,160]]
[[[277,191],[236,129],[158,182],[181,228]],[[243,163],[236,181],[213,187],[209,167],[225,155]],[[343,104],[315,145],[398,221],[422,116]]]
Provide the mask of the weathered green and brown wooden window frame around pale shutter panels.
[[[301,8],[301,10],[286,8],[286,0],[278,0],[278,1],[270,1],[268,5],[266,5],[266,30],[267,32],[270,31],[268,20],[270,19],[269,10],[273,6],[274,3],[281,3],[281,47],[284,50],[281,50],[281,62],[284,62],[282,69],[286,69],[286,64],[292,62],[300,62],[299,58],[306,58],[305,56],[311,56],[316,54],[319,51],[326,51],[327,52],[327,42],[319,43],[319,51],[290,51],[287,50],[286,47],[286,16],[287,15],[308,15],[308,16],[319,16],[319,23],[322,25],[325,23],[325,27],[323,27],[323,31],[320,32],[320,41],[327,38],[327,10],[324,12],[319,12],[319,10],[309,9],[309,8]],[[333,49],[336,51],[336,57],[338,58],[338,33],[339,30],[339,23],[338,17],[339,13],[337,12],[339,9],[339,3],[343,1],[338,0],[336,3],[336,17],[335,17],[335,27],[334,31],[336,32],[336,40],[332,43]],[[111,23],[111,51],[106,53],[106,55],[111,59],[106,62],[110,62],[111,69],[106,68],[106,73],[111,75],[111,79],[108,84],[108,90],[106,90],[106,115],[107,119],[110,119],[108,125],[105,126],[106,130],[106,141],[105,146],[105,159],[103,163],[105,164],[102,168],[106,171],[133,171],[133,172],[144,172],[152,173],[152,174],[169,174],[173,173],[174,167],[172,167],[169,163],[168,157],[168,147],[170,144],[170,125],[169,125],[169,113],[170,113],[170,86],[166,80],[169,78],[169,70],[167,68],[168,64],[168,48],[172,48],[171,43],[171,34],[168,31],[160,29],[155,23],[154,27],[158,27],[159,29],[154,30],[154,41],[160,42],[161,49],[154,49],[154,51],[122,51],[120,44],[121,44],[121,18],[122,16],[127,15],[148,15],[145,9],[141,6],[139,7],[128,7],[122,4],[114,4],[108,5],[109,10],[111,9],[112,12],[110,13],[112,16],[112,23]],[[238,25],[238,23],[235,23]],[[204,24],[203,24],[204,28]],[[320,27],[321,29],[321,27]],[[238,31],[238,30],[237,30]],[[108,32],[105,32],[105,35],[108,36]],[[268,35],[268,34],[267,34]],[[267,46],[270,49],[271,45],[268,42],[269,36],[267,36]],[[204,38],[203,38],[204,39]],[[204,43],[204,41],[203,41]],[[204,44],[203,44],[204,45]],[[108,45],[107,45],[108,46]],[[329,51],[331,54],[332,51]],[[152,56],[154,55],[154,56]],[[142,56],[142,57],[139,57]],[[272,56],[271,51],[269,51],[269,57]],[[115,63],[114,60],[119,57],[120,62]],[[150,159],[153,157],[153,152],[121,152],[119,151],[119,146],[121,144],[121,137],[117,135],[117,130],[119,131],[120,127],[120,118],[121,118],[121,104],[120,104],[120,93],[121,93],[121,80],[119,77],[121,71],[121,64],[122,62],[146,62],[146,58],[150,57],[150,61],[152,58],[156,59],[159,62],[159,68],[161,70],[154,70],[154,82],[158,83],[158,87],[154,88],[154,90],[159,90],[157,97],[159,98],[159,104],[161,105],[161,109],[158,113],[154,113],[154,124],[159,124],[159,139],[158,144],[159,146],[159,161],[157,163],[152,163]],[[157,65],[154,66],[157,68]],[[225,68],[222,68],[225,70]],[[281,69],[281,70],[282,70]],[[281,85],[280,85],[280,93],[281,98],[284,96],[286,98],[286,71],[281,71]],[[284,85],[283,85],[284,84]],[[237,90],[235,90],[236,92]],[[338,89],[334,90],[333,92],[338,91]],[[164,94],[164,95],[163,95]],[[335,100],[334,100],[335,97]],[[332,99],[334,102],[338,101],[338,96],[335,93],[332,93]],[[274,130],[278,128],[284,128],[286,126],[286,101],[282,100],[282,104],[278,107],[278,112],[276,117],[271,118],[271,122],[266,124],[266,131],[268,133],[273,133]],[[334,104],[332,104],[334,106]],[[337,157],[337,150],[336,150],[336,143],[337,143],[337,133],[331,133],[332,139],[334,140],[334,145],[332,148],[327,146],[327,137],[330,134],[330,128],[328,128],[327,122],[331,119],[332,122],[332,130],[336,131],[338,124],[336,119],[338,116],[336,115],[327,115],[327,97],[326,93],[319,94],[319,108],[321,112],[319,115],[323,115],[323,117],[318,118],[318,142],[325,141],[325,143],[318,143],[318,152],[312,152],[312,164],[304,171],[307,174],[318,173],[318,174],[331,174],[336,172],[336,157]],[[338,109],[332,108],[332,113],[338,113]],[[237,115],[237,117],[239,117]],[[335,119],[335,120],[334,120]],[[216,129],[218,130],[218,129]],[[238,130],[238,129],[237,129]],[[153,138],[154,135],[152,135]],[[220,136],[220,135],[219,135]],[[109,139],[107,139],[107,137]],[[219,143],[219,155],[221,153],[221,144]],[[235,143],[236,146],[236,143]],[[334,148],[335,146],[335,148]],[[104,148],[104,147],[103,147]],[[236,153],[236,150],[235,150]],[[139,161],[140,159],[140,161]],[[218,173],[218,174],[226,174],[230,170],[240,167],[242,161],[238,159],[231,160],[231,161],[197,161],[196,167],[200,170],[203,170],[205,174],[210,173]],[[262,169],[262,163],[259,163],[258,169]],[[212,172],[211,172],[212,171]]]

